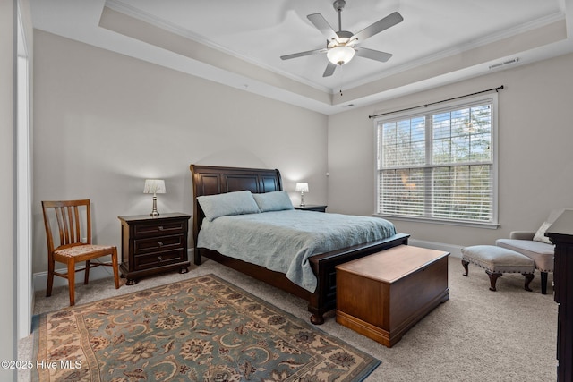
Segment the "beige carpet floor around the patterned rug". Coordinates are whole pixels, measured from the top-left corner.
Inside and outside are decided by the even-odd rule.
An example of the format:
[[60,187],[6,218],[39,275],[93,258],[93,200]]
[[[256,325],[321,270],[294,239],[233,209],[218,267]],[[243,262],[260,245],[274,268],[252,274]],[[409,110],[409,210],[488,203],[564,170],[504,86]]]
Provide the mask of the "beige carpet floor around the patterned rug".
[[[112,280],[78,284],[76,304],[209,273],[295,316],[308,318],[304,301],[213,261],[191,267],[186,275],[151,276],[136,285],[122,285],[119,290],[114,289]],[[536,274],[531,284],[534,292],[526,292],[523,276],[504,275],[498,280],[498,292],[491,292],[483,269],[470,264],[469,277],[462,273],[460,259],[450,257],[450,300],[423,318],[390,349],[338,325],[333,312],[320,328],[382,361],[367,381],[555,380],[557,304],[551,286],[550,294],[542,295]],[[49,298],[37,293],[35,313],[58,310],[67,304],[66,288],[55,289]],[[21,341],[19,352],[19,359],[31,359],[31,337]],[[22,372],[19,380],[28,381],[30,375]]]

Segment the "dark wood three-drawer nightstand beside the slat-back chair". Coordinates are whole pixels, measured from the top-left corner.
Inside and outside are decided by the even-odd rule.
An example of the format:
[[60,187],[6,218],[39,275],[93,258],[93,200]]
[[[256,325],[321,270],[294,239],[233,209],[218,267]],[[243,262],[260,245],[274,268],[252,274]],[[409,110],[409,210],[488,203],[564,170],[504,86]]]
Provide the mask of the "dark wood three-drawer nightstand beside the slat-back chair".
[[191,215],[118,216],[122,223],[122,276],[127,285],[142,276],[179,269],[187,273],[187,233]]

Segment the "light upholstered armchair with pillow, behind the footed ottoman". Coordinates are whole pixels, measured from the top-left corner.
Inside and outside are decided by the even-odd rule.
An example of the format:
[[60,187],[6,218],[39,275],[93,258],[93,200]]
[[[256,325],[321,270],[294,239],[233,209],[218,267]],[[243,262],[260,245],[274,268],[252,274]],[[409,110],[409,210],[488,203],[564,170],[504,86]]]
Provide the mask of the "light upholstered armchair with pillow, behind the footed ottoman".
[[535,269],[541,272],[541,293],[547,293],[547,274],[553,272],[553,257],[555,246],[545,237],[545,231],[561,215],[565,208],[552,210],[547,220],[537,230],[533,231],[513,231],[509,233],[509,239],[498,239],[495,244],[498,247],[515,250],[526,255],[535,262]]

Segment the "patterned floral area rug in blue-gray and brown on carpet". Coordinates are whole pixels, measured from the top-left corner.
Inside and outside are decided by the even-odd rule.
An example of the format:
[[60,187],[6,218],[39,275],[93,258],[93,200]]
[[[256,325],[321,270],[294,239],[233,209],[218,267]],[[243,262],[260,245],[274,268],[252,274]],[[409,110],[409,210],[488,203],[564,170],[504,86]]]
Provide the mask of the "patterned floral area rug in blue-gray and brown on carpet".
[[201,276],[35,318],[39,381],[360,381],[381,363]]

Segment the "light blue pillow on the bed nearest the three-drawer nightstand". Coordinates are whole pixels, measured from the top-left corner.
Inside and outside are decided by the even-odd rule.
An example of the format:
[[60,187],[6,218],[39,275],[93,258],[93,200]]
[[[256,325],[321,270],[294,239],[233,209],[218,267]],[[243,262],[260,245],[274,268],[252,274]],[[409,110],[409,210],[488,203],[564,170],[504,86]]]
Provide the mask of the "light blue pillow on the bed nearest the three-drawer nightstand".
[[220,216],[258,214],[261,212],[252,198],[251,191],[198,196],[197,201],[199,201],[201,209],[209,221]]

